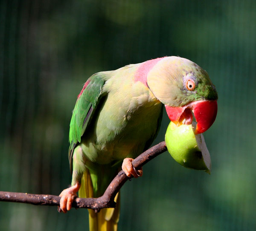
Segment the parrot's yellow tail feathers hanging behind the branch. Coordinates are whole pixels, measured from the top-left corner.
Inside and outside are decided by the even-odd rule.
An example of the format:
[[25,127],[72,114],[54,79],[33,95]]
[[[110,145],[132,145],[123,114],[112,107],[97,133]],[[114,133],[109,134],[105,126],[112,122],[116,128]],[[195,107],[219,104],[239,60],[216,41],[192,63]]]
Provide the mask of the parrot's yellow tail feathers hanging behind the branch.
[[[93,184],[89,170],[84,172],[79,189],[79,197],[93,197]],[[120,211],[120,193],[115,196],[116,208],[103,208],[99,213],[89,212],[90,231],[117,231]]]

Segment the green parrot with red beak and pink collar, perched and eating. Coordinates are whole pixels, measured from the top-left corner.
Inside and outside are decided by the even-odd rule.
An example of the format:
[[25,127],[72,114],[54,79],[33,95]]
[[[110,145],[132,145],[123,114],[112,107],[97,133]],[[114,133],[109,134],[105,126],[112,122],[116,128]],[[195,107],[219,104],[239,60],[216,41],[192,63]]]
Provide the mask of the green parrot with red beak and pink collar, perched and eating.
[[[132,160],[147,150],[160,128],[163,109],[175,124],[192,124],[204,133],[217,115],[218,94],[208,73],[181,57],[155,58],[112,71],[98,72],[85,82],[70,121],[69,162],[72,181],[60,196],[66,213],[77,197],[99,197],[119,170],[142,176]],[[193,116],[194,114],[194,116]],[[90,231],[116,231],[116,208],[89,211]]]

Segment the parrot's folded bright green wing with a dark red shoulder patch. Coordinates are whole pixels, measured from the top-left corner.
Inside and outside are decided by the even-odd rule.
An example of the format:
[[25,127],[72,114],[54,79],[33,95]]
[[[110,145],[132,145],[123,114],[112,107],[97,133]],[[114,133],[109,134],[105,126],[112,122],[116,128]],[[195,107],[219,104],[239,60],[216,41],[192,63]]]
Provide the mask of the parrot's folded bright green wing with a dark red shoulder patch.
[[83,136],[88,124],[93,117],[93,113],[100,99],[104,95],[102,88],[105,84],[105,74],[102,72],[92,75],[84,84],[83,89],[78,95],[73,115],[70,121],[70,133],[69,133],[69,161],[70,170],[73,170],[73,152],[76,145],[81,142],[81,136]]

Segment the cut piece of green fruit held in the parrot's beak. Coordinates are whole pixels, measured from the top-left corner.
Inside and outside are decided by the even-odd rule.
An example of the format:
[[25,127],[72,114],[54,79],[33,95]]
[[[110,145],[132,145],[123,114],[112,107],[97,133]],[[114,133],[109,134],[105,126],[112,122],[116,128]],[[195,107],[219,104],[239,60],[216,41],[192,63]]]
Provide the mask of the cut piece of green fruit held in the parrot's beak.
[[171,122],[166,130],[166,147],[180,165],[210,173],[212,167],[210,154],[204,136],[194,133],[195,127],[195,123],[177,126]]

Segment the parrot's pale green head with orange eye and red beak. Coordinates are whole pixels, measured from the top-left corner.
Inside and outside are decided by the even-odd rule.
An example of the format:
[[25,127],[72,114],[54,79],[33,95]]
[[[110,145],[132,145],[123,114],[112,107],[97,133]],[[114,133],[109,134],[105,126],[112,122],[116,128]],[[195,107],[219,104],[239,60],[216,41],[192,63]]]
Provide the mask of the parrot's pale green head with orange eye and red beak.
[[207,72],[180,57],[165,57],[152,67],[147,84],[165,105],[167,115],[176,124],[197,121],[196,133],[205,132],[215,121],[218,94]]

